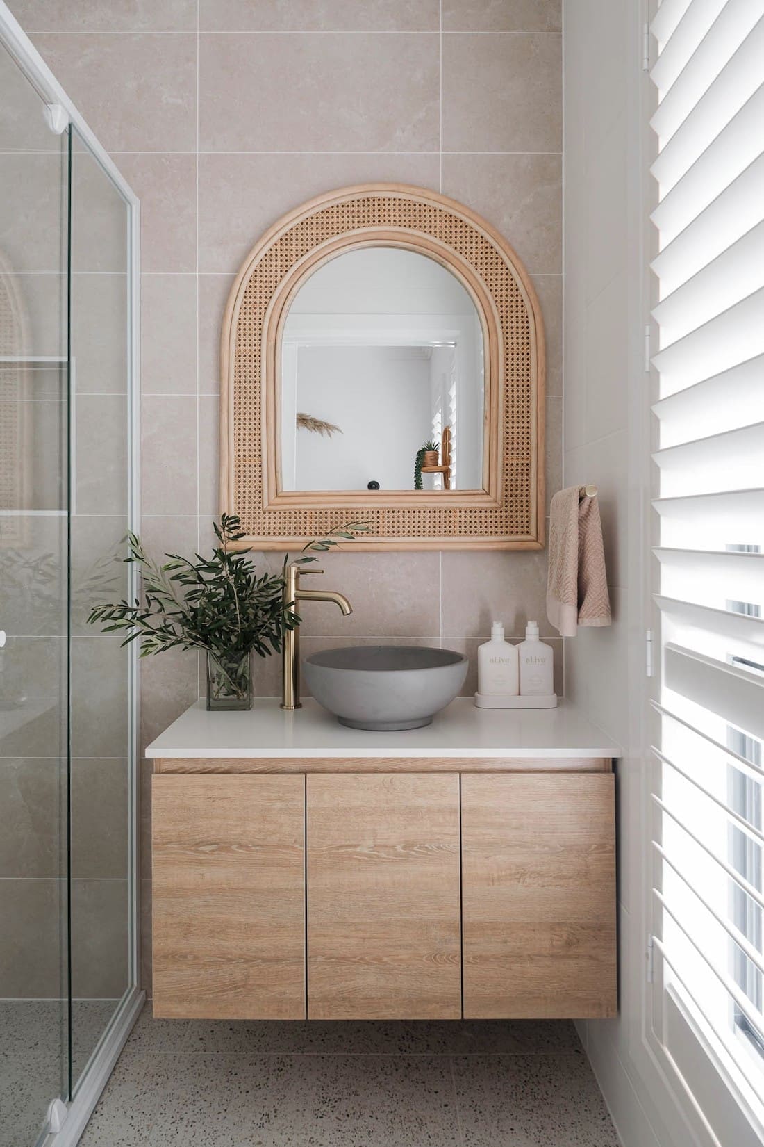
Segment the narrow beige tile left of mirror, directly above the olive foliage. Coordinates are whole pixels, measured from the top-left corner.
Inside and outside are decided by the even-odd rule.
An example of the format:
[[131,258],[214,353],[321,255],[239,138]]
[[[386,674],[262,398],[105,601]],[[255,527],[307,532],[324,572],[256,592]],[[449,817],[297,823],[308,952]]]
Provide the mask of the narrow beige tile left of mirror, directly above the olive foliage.
[[149,395],[141,427],[141,512],[196,514],[196,397]]

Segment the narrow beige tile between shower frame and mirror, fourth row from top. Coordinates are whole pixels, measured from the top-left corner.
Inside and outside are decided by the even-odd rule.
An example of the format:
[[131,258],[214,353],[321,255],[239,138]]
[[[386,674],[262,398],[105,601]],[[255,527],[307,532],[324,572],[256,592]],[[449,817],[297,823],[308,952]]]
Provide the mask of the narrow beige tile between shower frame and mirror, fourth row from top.
[[141,393],[196,393],[196,275],[141,276]]

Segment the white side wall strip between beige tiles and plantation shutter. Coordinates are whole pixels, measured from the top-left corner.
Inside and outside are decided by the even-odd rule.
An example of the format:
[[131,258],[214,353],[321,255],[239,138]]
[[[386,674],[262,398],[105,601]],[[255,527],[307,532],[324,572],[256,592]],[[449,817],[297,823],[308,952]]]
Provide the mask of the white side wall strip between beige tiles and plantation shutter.
[[599,486],[614,621],[566,640],[565,688],[624,749],[617,770],[621,1014],[580,1030],[624,1147],[706,1147],[711,1139],[645,1038],[646,18],[637,0],[564,0],[564,484]]

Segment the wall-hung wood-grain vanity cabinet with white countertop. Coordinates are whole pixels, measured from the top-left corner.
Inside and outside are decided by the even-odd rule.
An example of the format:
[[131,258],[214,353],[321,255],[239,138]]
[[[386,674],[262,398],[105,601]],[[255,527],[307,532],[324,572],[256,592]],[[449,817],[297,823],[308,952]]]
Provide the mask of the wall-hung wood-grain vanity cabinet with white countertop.
[[155,1015],[613,1015],[615,754],[565,707],[191,708],[148,750]]

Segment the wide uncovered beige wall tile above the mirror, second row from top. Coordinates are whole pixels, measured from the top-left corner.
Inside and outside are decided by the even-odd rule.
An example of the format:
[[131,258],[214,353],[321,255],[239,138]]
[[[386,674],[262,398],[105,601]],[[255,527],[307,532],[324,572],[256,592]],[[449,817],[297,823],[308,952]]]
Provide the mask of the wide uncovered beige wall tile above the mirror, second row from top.
[[435,34],[204,34],[199,146],[434,150],[438,92]]

